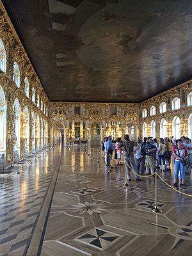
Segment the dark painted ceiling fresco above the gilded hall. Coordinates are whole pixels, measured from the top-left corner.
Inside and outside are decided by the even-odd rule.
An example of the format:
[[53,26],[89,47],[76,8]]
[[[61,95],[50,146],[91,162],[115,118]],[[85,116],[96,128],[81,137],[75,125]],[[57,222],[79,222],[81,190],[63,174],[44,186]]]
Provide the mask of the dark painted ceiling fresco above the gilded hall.
[[51,101],[141,102],[192,77],[192,1],[3,3]]

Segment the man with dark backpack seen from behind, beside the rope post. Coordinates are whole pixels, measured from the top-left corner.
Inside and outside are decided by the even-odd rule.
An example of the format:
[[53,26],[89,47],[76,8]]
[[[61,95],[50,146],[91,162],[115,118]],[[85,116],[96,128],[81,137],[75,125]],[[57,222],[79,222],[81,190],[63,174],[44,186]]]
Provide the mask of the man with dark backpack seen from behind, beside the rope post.
[[136,143],[133,141],[129,140],[129,135],[126,134],[124,136],[125,141],[120,144],[120,147],[124,147],[124,163],[125,163],[125,170],[127,173],[127,180],[131,181],[130,177],[130,171],[129,171],[129,164],[131,164],[131,168],[134,171],[134,177],[136,181],[140,181],[141,179],[138,178],[138,173],[135,160],[134,160],[134,147],[137,146]]

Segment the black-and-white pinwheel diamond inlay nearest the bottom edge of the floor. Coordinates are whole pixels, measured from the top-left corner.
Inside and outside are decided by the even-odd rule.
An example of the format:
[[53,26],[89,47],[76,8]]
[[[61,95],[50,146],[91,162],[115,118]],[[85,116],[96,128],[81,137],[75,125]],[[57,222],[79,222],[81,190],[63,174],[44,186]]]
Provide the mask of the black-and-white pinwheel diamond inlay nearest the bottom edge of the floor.
[[89,230],[83,236],[78,237],[76,241],[88,244],[99,250],[105,250],[112,243],[115,243],[120,237],[121,236],[118,234],[114,234],[96,227]]

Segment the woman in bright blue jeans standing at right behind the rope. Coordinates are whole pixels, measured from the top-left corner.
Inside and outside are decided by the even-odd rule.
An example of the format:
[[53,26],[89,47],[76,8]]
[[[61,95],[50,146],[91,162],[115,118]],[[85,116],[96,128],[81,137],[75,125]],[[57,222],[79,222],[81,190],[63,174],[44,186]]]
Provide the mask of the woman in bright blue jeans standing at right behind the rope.
[[185,166],[182,163],[182,160],[186,159],[188,156],[188,152],[186,147],[184,147],[182,140],[176,141],[176,146],[173,150],[174,153],[174,164],[175,164],[175,173],[174,173],[174,183],[173,186],[178,186],[179,179],[178,174],[180,171],[180,186],[184,186],[185,184]]

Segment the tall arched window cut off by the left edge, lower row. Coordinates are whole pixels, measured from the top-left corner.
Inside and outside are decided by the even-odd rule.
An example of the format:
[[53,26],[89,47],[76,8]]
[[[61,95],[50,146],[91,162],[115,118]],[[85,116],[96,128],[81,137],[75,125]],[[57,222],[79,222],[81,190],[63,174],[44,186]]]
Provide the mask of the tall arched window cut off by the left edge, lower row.
[[0,86],[0,152],[6,150],[6,100]]

